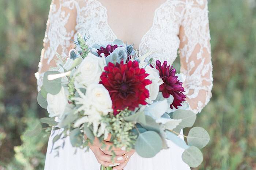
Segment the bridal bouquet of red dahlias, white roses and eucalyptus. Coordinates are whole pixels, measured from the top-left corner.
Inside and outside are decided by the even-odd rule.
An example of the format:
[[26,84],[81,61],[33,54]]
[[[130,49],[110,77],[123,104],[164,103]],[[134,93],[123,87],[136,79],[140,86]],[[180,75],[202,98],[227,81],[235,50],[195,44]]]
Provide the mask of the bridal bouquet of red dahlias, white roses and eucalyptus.
[[[111,134],[113,147],[135,149],[151,158],[168,148],[167,139],[184,148],[184,162],[199,166],[199,148],[210,140],[208,133],[194,127],[184,136],[187,143],[178,136],[196,119],[185,101],[185,76],[166,61],[148,59],[149,53],[141,56],[121,40],[89,47],[87,38],[78,34],[76,49],[67,59],[59,56],[57,67],[44,74],[37,100],[49,117],[41,122],[63,129],[53,143],[69,136],[72,146],[85,148]],[[55,150],[60,147],[53,144]]]

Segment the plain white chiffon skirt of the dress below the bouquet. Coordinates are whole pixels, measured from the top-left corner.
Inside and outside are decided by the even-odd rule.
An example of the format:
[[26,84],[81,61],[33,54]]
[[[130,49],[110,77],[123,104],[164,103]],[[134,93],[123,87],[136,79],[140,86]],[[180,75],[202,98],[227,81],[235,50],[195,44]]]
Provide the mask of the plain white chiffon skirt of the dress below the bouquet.
[[[52,131],[53,132],[53,131]],[[59,130],[50,135],[45,160],[45,170],[99,170],[100,164],[97,162],[93,152],[90,150],[85,152],[82,149],[72,147],[69,138],[65,139],[64,148],[59,149],[59,157],[56,152],[52,151],[52,140]],[[181,138],[183,138],[181,136]],[[54,147],[61,145],[56,142]],[[153,158],[142,158],[138,154],[133,154],[129,159],[124,170],[190,170],[190,167],[181,159],[184,151],[168,140],[167,150],[160,151]],[[74,154],[75,153],[75,154]]]

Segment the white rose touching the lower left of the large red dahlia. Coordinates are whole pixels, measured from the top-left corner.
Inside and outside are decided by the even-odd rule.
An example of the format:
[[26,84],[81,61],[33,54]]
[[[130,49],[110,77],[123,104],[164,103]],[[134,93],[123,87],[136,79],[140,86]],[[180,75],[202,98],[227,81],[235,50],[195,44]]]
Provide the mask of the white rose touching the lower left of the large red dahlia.
[[89,104],[103,115],[113,111],[109,92],[102,84],[91,84],[88,86],[85,96],[88,98]]

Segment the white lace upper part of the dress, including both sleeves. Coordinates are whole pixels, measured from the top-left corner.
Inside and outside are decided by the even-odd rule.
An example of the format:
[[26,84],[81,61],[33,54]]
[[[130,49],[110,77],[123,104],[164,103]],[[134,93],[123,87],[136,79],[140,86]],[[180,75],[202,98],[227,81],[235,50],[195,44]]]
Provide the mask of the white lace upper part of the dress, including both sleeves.
[[[44,38],[38,79],[54,66],[58,53],[68,53],[76,33],[90,35],[89,45],[104,44],[118,37],[108,24],[106,8],[97,0],[53,0]],[[212,64],[207,0],[166,0],[155,10],[152,27],[141,39],[141,54],[172,64],[179,49],[181,73],[191,110],[200,112],[210,101]]]

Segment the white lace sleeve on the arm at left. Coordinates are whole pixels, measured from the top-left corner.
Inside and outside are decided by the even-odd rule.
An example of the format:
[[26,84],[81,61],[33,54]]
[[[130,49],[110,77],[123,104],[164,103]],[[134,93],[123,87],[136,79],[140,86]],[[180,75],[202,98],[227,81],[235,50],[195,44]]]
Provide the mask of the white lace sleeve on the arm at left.
[[39,70],[35,73],[38,90],[42,86],[42,77],[51,66],[56,66],[56,53],[67,53],[71,48],[71,39],[75,34],[76,6],[74,0],[52,0],[46,32],[44,49],[41,52]]

